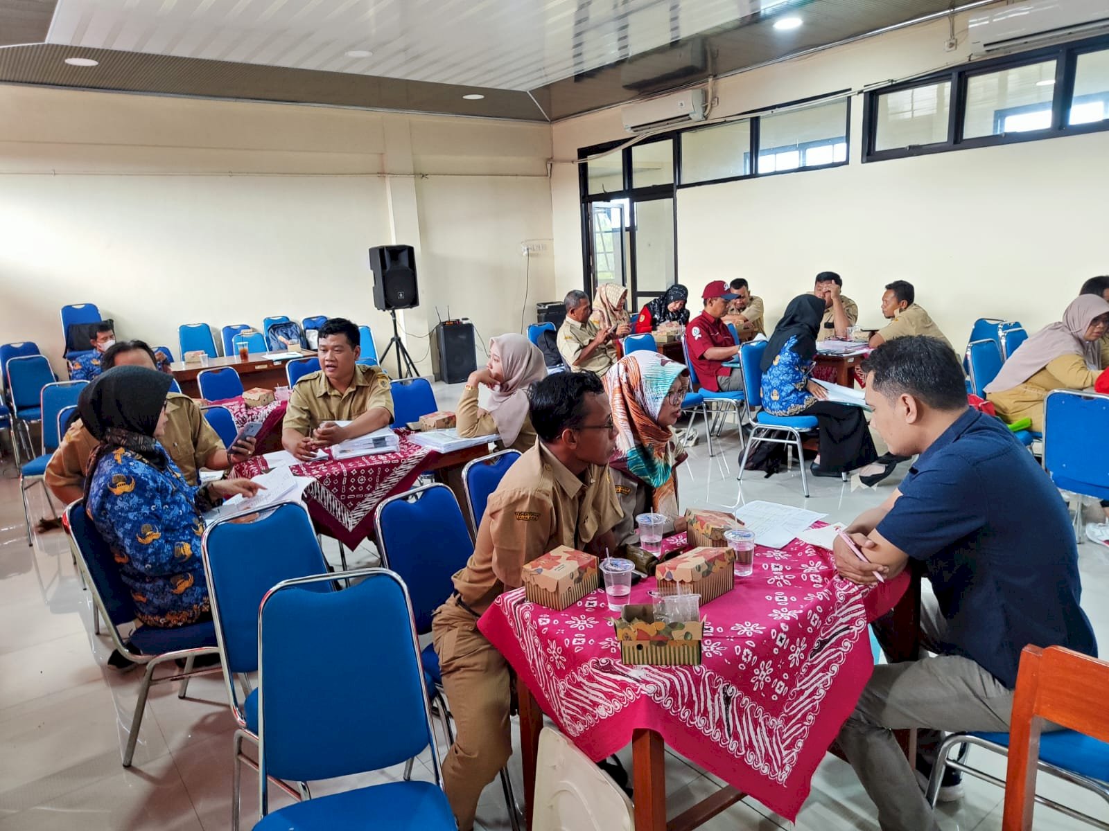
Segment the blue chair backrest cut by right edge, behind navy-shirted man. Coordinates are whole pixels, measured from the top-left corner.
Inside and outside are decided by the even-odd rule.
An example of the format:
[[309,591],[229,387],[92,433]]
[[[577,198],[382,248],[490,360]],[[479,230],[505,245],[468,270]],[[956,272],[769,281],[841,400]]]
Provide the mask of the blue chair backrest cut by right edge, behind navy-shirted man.
[[1054,390],[1044,402],[1044,470],[1058,488],[1109,500],[1109,396]]

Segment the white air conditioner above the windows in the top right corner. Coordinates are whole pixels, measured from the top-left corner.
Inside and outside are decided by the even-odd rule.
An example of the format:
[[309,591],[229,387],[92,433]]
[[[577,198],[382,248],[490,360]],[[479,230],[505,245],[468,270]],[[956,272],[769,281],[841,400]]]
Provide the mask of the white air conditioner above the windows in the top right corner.
[[1109,29],[1106,0],[1028,0],[970,18],[970,53],[988,54]]

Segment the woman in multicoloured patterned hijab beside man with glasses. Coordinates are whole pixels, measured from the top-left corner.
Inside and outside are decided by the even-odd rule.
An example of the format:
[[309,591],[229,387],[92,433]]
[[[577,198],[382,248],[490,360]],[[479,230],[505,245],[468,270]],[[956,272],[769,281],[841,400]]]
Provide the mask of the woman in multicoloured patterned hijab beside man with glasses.
[[624,356],[604,375],[617,428],[609,470],[624,514],[613,529],[620,545],[637,542],[635,516],[642,513],[664,514],[674,531],[685,530],[675,473],[685,453],[671,428],[689,387],[685,365],[645,350]]

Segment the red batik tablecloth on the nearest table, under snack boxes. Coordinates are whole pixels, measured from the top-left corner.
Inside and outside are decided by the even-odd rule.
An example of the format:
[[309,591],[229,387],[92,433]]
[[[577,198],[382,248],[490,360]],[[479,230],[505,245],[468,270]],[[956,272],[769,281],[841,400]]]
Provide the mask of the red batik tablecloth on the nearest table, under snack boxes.
[[[908,575],[874,589],[835,575],[832,553],[759,547],[754,574],[703,606],[703,663],[627,666],[603,591],[564,612],[506,592],[478,623],[543,711],[594,760],[649,728],[667,745],[790,820],[871,677],[866,625]],[[632,588],[649,603],[654,579]]]

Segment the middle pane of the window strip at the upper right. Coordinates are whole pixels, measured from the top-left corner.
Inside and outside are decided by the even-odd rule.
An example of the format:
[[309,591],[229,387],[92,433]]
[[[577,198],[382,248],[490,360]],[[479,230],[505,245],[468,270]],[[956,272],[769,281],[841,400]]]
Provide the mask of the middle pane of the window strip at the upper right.
[[963,137],[1047,130],[1054,91],[1055,61],[971,75]]

